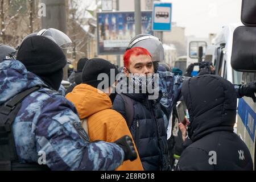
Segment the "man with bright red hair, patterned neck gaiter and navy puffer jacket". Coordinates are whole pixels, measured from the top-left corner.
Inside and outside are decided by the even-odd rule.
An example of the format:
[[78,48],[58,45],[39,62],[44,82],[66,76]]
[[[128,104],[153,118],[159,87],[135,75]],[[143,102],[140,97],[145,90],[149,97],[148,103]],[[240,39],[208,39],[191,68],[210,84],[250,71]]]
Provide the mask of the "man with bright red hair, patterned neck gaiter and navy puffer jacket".
[[[144,170],[168,170],[170,162],[167,134],[164,128],[164,114],[159,102],[160,97],[150,100],[148,90],[143,90],[143,85],[148,86],[155,81],[152,56],[147,49],[135,47],[125,52],[123,60],[125,65],[123,71],[129,79],[123,79],[121,83],[122,85],[131,84],[133,92],[131,93],[129,89],[129,92],[118,94],[113,109],[126,119]],[[135,92],[136,88],[139,88],[137,90],[139,93]]]

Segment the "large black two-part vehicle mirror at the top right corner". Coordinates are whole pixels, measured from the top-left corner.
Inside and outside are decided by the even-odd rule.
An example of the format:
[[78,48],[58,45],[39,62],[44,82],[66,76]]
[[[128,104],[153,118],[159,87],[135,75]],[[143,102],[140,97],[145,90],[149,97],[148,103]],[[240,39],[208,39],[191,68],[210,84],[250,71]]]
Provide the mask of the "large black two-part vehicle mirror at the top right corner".
[[233,35],[231,65],[240,72],[256,72],[256,1],[243,0],[241,21]]

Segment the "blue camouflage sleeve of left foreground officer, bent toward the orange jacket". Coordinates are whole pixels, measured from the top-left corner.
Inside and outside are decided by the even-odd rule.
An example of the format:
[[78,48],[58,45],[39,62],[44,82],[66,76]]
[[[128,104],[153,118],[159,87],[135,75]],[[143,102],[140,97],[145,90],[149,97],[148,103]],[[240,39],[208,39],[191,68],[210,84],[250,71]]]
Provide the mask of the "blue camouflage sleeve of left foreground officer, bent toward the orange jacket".
[[[124,152],[114,143],[89,142],[71,102],[48,99],[38,115],[36,151],[46,154],[52,170],[114,170]],[[81,130],[82,129],[82,130]],[[86,139],[87,138],[87,139]]]

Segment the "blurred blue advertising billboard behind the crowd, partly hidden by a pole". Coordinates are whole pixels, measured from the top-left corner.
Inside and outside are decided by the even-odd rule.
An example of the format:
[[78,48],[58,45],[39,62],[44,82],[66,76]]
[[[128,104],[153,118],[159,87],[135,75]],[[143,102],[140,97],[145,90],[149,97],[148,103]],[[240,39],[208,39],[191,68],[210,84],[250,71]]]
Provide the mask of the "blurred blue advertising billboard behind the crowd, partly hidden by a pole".
[[[142,11],[142,34],[152,32],[152,11]],[[135,36],[134,12],[97,13],[98,55],[125,53]]]

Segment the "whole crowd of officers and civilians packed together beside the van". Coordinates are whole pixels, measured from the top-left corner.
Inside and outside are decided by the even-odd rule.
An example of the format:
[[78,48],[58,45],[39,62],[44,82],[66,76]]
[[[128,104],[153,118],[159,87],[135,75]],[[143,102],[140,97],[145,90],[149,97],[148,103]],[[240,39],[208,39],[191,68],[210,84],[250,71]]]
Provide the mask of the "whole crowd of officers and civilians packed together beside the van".
[[[171,71],[155,36],[131,40],[122,73],[110,60],[79,60],[65,92],[54,38],[33,34],[0,55],[0,170],[253,170],[233,127],[237,98],[255,101],[256,82],[233,85],[212,67]],[[175,120],[178,101],[185,123]]]

